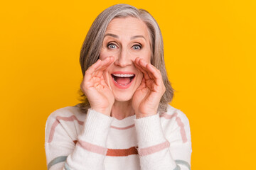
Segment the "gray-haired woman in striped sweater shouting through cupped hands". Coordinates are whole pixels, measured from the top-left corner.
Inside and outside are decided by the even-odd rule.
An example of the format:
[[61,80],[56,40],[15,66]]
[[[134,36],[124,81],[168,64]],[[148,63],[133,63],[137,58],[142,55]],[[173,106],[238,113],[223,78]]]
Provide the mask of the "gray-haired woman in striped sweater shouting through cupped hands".
[[80,64],[84,100],[46,123],[48,169],[191,169],[188,119],[169,106],[161,31],[147,11],[102,11]]

